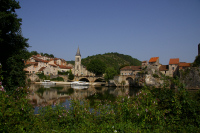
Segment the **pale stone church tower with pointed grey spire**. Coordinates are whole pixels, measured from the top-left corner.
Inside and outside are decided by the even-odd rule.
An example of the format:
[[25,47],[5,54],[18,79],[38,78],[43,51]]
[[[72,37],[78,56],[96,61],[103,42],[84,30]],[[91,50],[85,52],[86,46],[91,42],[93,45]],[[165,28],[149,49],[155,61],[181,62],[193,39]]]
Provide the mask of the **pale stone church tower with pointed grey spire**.
[[75,56],[75,66],[74,66],[74,74],[75,76],[80,76],[82,71],[81,71],[81,53],[79,50],[79,47],[77,49],[76,52],[76,56]]

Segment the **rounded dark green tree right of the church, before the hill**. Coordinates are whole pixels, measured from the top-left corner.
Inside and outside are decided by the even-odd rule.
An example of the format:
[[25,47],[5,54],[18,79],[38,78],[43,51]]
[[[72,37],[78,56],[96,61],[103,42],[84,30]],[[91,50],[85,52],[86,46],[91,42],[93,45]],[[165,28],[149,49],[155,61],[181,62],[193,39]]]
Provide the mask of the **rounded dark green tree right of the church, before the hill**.
[[99,59],[93,59],[87,64],[87,70],[96,75],[102,75],[106,70],[106,64]]

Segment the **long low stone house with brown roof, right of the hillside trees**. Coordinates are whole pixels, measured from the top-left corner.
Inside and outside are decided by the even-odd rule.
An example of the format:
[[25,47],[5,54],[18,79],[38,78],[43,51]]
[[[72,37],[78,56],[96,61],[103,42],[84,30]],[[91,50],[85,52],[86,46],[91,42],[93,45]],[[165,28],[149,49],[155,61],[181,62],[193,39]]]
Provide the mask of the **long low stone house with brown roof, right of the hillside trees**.
[[125,66],[120,69],[120,75],[135,76],[142,70],[141,66]]

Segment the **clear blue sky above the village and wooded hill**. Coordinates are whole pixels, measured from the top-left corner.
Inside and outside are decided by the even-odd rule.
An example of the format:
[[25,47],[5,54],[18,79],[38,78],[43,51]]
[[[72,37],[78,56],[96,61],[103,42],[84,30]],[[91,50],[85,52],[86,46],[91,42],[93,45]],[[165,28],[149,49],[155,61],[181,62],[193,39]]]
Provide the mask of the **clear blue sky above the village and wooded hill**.
[[74,60],[118,52],[140,61],[191,63],[200,43],[200,0],[18,0],[29,51]]

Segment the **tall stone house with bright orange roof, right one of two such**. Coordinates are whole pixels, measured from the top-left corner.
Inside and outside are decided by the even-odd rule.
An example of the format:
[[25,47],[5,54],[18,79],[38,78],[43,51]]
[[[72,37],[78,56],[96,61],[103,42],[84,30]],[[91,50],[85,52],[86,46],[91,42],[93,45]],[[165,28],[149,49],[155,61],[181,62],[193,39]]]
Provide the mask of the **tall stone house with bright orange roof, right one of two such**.
[[179,58],[171,58],[169,60],[169,76],[175,77],[179,70]]

